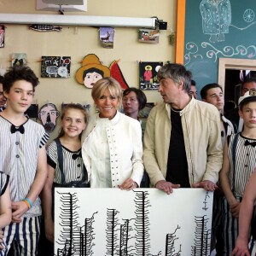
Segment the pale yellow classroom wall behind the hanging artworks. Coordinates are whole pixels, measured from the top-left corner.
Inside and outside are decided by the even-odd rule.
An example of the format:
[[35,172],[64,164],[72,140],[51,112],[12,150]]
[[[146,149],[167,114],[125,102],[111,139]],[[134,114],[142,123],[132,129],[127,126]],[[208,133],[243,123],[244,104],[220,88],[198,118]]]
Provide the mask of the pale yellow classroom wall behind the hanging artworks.
[[[0,15],[1,13],[55,14],[55,12],[37,11],[35,6],[35,0],[0,0]],[[84,56],[94,53],[106,66],[120,59],[119,67],[125,80],[130,86],[138,87],[137,61],[175,60],[175,46],[169,44],[167,36],[171,29],[175,31],[176,11],[177,0],[88,0],[86,13],[66,12],[65,15],[157,16],[168,22],[168,30],[160,31],[160,44],[138,43],[137,28],[116,27],[113,49],[101,47],[96,27],[78,26],[76,31],[73,26],[62,26],[61,32],[35,32],[27,25],[6,24],[5,46],[0,49],[0,67],[10,66],[11,54],[26,53],[28,65],[40,77],[42,55],[70,55],[71,78],[40,79],[35,102],[38,103],[39,108],[44,103],[52,102],[58,109],[61,109],[61,102],[93,104],[90,89],[78,84],[74,78]],[[148,102],[161,102],[157,91],[145,92]]]

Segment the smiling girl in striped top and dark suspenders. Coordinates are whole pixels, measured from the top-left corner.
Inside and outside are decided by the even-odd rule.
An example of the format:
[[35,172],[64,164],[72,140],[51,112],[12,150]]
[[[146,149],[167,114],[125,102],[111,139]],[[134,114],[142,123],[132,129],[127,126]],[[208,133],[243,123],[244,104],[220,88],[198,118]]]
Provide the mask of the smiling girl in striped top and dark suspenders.
[[[86,126],[86,110],[68,104],[61,114],[61,132],[47,148],[48,177],[42,194],[46,238],[54,242],[54,187],[88,187],[81,156],[81,133]],[[45,253],[45,252],[44,252]]]

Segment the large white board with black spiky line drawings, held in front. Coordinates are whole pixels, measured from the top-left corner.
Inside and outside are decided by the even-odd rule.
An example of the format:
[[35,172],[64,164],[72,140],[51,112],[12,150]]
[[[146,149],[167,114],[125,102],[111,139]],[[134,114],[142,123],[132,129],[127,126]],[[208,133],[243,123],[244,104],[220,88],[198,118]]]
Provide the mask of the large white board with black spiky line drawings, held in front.
[[55,189],[55,255],[210,255],[212,192]]

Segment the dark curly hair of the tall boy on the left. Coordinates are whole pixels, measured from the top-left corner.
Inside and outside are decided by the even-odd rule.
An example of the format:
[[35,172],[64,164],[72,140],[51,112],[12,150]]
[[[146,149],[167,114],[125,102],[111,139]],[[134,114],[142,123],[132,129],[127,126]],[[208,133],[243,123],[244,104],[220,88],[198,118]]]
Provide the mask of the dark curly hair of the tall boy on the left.
[[35,91],[35,87],[39,84],[38,77],[30,67],[15,66],[10,67],[8,72],[4,74],[3,91],[9,93],[10,88],[15,84],[15,82],[20,80],[25,80],[26,82],[31,83],[33,91]]

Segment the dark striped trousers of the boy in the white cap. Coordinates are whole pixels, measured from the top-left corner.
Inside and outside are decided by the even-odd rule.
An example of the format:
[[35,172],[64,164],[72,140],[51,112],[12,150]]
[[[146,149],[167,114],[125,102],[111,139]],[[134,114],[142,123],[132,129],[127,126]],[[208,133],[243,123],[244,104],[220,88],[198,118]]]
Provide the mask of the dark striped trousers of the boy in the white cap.
[[[241,202],[241,197],[236,198]],[[234,218],[230,212],[228,201],[224,198],[224,256],[230,256],[236,247],[238,236],[238,218]]]

